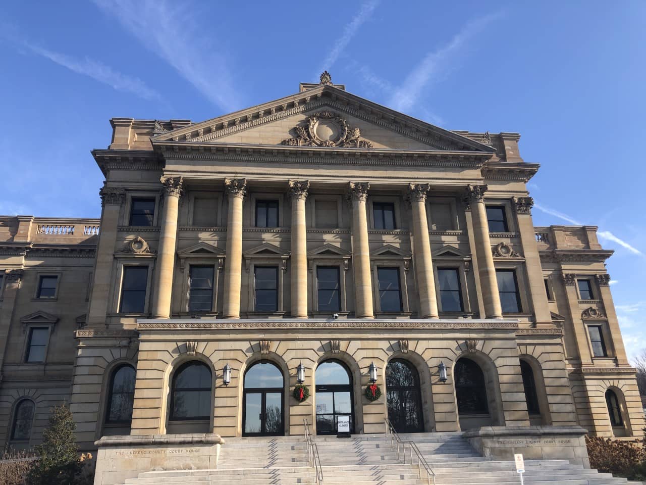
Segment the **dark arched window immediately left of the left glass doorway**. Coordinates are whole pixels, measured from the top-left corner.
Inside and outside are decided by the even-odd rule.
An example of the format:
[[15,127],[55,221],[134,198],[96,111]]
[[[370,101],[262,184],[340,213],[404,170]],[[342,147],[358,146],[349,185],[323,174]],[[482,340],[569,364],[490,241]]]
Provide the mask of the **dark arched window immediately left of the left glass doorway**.
[[211,418],[211,369],[198,361],[187,362],[172,378],[171,420]]

